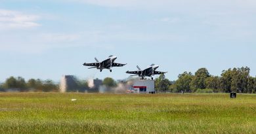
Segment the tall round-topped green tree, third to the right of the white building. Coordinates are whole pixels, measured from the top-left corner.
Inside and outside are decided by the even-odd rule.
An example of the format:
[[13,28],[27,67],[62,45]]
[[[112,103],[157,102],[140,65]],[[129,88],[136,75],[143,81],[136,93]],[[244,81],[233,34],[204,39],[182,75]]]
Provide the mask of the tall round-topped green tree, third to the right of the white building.
[[209,72],[207,69],[205,68],[201,68],[198,69],[198,71],[196,71],[194,78],[191,81],[191,88],[193,90],[197,90],[197,89],[205,89],[205,79],[208,78]]

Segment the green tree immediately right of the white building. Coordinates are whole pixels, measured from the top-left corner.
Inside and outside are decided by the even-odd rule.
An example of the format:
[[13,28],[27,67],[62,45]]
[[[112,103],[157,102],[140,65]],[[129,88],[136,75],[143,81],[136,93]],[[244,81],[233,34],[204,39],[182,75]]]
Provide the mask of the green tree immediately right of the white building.
[[158,78],[156,78],[156,82],[155,82],[156,91],[167,92],[167,90],[169,90],[170,85],[171,85],[171,82],[170,80],[165,78],[165,75],[160,75]]

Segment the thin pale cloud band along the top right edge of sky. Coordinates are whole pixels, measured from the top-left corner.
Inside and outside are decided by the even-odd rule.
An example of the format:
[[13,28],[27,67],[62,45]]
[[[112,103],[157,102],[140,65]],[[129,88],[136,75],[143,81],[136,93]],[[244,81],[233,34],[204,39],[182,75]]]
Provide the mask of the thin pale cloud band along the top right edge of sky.
[[99,5],[103,7],[137,8],[147,10],[211,10],[213,8],[240,9],[243,7],[255,10],[256,1],[254,0],[68,0],[74,2]]

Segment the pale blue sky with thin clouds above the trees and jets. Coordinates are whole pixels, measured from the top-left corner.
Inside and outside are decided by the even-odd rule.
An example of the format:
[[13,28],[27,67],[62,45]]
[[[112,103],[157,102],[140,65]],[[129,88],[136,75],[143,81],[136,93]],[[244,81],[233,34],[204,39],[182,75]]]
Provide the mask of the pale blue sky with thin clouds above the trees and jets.
[[[0,0],[0,82],[9,76],[127,78],[155,63],[176,80],[250,67],[256,76],[255,0]],[[83,63],[117,56],[113,72]]]

